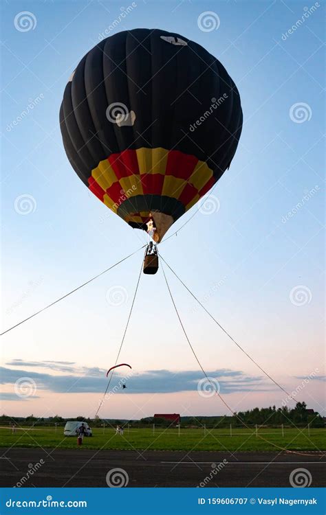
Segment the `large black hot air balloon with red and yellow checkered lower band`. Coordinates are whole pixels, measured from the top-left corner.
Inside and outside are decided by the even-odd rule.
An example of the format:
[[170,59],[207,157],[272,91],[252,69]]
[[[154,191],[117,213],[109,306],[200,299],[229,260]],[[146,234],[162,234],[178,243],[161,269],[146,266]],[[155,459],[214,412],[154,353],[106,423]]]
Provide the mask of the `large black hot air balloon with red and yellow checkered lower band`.
[[159,243],[230,166],[242,111],[235,83],[203,47],[135,29],[80,60],[60,124],[67,157],[89,190]]

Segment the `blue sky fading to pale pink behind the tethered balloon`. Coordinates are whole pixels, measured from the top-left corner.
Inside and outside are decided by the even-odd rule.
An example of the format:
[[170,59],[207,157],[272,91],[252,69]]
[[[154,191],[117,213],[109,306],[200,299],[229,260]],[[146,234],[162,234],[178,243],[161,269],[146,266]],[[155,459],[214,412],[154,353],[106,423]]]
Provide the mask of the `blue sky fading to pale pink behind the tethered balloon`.
[[[161,253],[226,330],[276,380],[295,389],[298,377],[316,369],[315,375],[323,375],[325,6],[301,1],[134,4],[121,19],[122,4],[115,1],[2,3],[3,329],[146,242],[78,179],[63,150],[58,111],[70,74],[102,32],[162,28],[191,38],[221,60],[239,89],[244,124],[230,170],[210,197],[213,213],[197,212],[177,236],[162,243]],[[312,5],[313,11],[305,10]],[[31,28],[17,30],[24,11]],[[216,25],[206,32],[199,26],[205,12],[213,12]],[[36,378],[37,398],[10,400],[18,369],[34,377],[28,363],[68,361],[76,376],[81,369],[107,369],[114,363],[141,261],[142,251],[3,337],[1,364],[15,371],[6,375],[3,411],[41,415],[45,404],[54,402],[55,381],[44,384],[41,378]],[[237,409],[280,405],[283,393],[265,378],[258,381],[265,388],[257,389],[254,378],[261,372],[169,272],[168,277],[204,368],[223,384],[228,378],[221,370],[232,371],[232,385],[237,374],[252,378],[250,392],[241,382],[225,387],[228,402]],[[118,305],[111,299],[117,288]],[[197,378],[162,273],[141,277],[121,358],[143,380],[155,370],[166,371],[166,382],[169,373],[188,374],[187,381]],[[12,364],[17,359],[23,367]],[[104,391],[105,377],[102,381]],[[134,392],[131,382],[128,397],[117,396],[106,416],[131,416],[132,393],[139,405],[146,405],[145,415],[157,411],[158,404],[180,412],[186,402],[193,413],[224,413],[215,399],[202,404],[197,387],[191,391],[188,382],[186,393],[179,383],[171,389],[157,382],[151,400],[144,385],[140,391],[139,380]],[[91,391],[84,410],[89,416],[98,399]],[[301,395],[320,411],[320,381],[309,382]],[[74,414],[83,409],[85,394],[72,398],[67,393],[64,399],[62,414]]]

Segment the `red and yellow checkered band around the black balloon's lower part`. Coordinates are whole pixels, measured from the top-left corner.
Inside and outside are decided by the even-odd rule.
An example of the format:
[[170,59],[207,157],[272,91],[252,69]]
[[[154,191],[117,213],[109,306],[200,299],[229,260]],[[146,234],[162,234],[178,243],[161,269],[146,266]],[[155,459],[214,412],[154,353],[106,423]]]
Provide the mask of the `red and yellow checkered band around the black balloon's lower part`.
[[[138,148],[112,154],[91,171],[89,190],[117,213],[134,196],[175,198],[190,209],[216,182],[204,161],[179,150]],[[122,210],[122,212],[124,212]],[[124,213],[126,222],[146,222],[150,209]]]

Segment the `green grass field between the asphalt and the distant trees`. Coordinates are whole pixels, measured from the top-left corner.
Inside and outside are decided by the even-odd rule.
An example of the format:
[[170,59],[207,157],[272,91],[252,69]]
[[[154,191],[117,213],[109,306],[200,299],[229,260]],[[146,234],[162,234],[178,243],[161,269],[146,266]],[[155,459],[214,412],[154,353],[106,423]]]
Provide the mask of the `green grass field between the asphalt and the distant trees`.
[[[307,428],[233,429],[232,437],[226,429],[126,429],[116,435],[113,428],[95,428],[93,437],[85,437],[83,448],[88,449],[151,449],[151,450],[326,450],[326,430]],[[274,444],[274,445],[273,445]],[[65,437],[63,427],[23,428],[12,434],[10,428],[0,428],[0,447],[76,447],[76,437]]]

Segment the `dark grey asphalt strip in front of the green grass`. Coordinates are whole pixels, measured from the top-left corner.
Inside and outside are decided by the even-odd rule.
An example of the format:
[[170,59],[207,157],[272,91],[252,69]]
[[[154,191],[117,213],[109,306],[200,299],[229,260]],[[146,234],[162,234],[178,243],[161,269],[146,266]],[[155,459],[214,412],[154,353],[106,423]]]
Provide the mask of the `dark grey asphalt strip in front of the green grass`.
[[107,487],[107,481],[127,487],[288,487],[290,481],[325,487],[326,455],[0,449],[1,486]]

